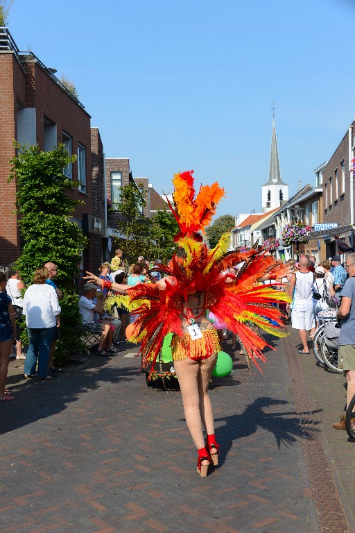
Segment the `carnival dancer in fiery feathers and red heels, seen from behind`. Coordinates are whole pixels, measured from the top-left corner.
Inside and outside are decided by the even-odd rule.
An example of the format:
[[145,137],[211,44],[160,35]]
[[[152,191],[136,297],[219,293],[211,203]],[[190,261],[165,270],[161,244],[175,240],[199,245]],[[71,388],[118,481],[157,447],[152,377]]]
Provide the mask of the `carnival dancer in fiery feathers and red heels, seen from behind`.
[[[135,323],[128,326],[126,335],[130,341],[141,343],[142,367],[146,369],[150,365],[150,373],[164,337],[173,332],[171,348],[185,418],[198,450],[198,473],[205,477],[209,465],[218,464],[219,448],[208,384],[220,345],[218,334],[207,319],[207,310],[238,335],[248,366],[252,359],[260,369],[259,361],[266,360],[261,350],[270,345],[261,337],[258,328],[285,336],[282,314],[272,304],[290,301],[290,298],[284,291],[277,290],[275,284],[259,285],[260,279],[282,278],[286,274],[274,257],[254,249],[227,253],[229,232],[212,250],[202,242],[200,232],[205,233],[224,191],[218,183],[201,186],[195,198],[192,174],[193,171],[176,174],[173,180],[174,205],[168,203],[180,226],[180,233],[175,237],[178,251],[167,266],[154,267],[166,277],[159,282],[139,283],[128,290],[127,286],[100,280],[90,273],[87,279],[128,295],[114,298],[137,317]],[[243,266],[234,274],[228,269],[235,264]],[[232,282],[227,282],[227,278]]]

